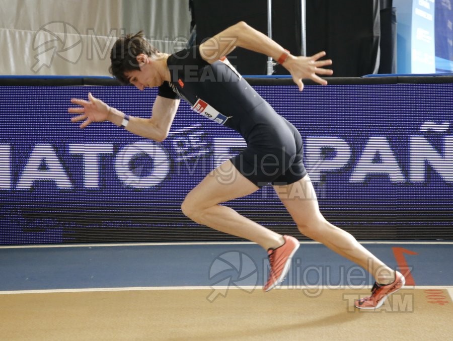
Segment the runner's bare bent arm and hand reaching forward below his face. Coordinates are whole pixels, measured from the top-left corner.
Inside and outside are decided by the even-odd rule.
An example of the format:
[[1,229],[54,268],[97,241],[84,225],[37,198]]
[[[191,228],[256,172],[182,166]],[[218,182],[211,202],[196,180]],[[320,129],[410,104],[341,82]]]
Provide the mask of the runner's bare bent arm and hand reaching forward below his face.
[[[72,122],[83,121],[80,125],[85,128],[92,122],[110,121],[118,127],[121,126],[125,114],[115,108],[109,107],[101,100],[95,98],[91,93],[89,100],[71,99],[73,104],[81,107],[69,108],[68,112],[81,115],[71,118]],[[155,141],[163,141],[170,132],[170,127],[178,110],[180,100],[174,100],[158,96],[153,105],[153,114],[150,118],[129,117],[126,130],[132,134],[139,135]]]

